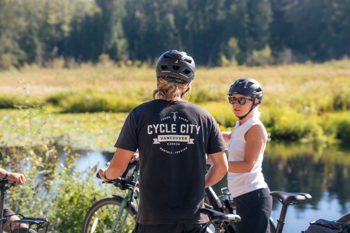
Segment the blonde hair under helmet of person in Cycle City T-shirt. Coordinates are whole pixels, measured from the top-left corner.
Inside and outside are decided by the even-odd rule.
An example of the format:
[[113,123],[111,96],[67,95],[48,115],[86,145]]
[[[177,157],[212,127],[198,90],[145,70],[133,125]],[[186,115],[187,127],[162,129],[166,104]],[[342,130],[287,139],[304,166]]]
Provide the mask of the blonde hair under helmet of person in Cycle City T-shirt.
[[[171,78],[177,78],[179,77],[169,75]],[[181,97],[181,94],[187,89],[188,82],[185,82],[183,84],[177,83],[177,82],[168,82],[164,79],[163,76],[159,76],[158,78],[158,87],[153,91],[153,99],[155,99],[155,96],[158,97],[169,97],[172,100],[176,100]]]

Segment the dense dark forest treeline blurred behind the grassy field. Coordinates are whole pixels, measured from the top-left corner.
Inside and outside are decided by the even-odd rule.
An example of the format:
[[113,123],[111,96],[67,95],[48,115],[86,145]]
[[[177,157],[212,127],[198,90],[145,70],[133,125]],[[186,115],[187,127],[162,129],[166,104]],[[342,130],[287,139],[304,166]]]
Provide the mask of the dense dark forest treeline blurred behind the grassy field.
[[154,64],[264,65],[350,55],[350,0],[0,0],[0,69],[107,54]]

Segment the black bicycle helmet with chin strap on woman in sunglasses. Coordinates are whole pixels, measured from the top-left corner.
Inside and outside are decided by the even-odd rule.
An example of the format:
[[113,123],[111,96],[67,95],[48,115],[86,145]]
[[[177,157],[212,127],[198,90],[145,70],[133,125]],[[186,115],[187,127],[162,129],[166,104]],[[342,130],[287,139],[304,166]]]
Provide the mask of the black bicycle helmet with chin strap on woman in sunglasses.
[[[237,79],[232,83],[228,95],[232,94],[240,94],[253,98],[253,105],[248,113],[244,116],[237,116],[240,120],[246,117],[262,101],[262,87],[257,80],[251,78]],[[259,101],[257,104],[255,104],[255,99]]]

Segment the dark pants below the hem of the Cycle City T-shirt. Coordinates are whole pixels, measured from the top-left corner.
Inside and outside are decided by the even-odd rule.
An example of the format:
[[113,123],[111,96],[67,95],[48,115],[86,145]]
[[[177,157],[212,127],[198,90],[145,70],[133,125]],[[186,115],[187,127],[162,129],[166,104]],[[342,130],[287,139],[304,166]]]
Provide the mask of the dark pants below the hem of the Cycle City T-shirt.
[[203,224],[136,224],[134,233],[205,233],[208,223]]

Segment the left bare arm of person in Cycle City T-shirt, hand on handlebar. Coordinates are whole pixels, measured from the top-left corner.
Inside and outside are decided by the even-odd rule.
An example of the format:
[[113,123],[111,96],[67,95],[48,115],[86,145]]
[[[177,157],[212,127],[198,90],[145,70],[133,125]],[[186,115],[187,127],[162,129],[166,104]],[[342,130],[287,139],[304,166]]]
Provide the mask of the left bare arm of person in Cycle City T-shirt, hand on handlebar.
[[102,180],[107,183],[107,180],[105,178],[113,180],[123,175],[133,155],[133,151],[117,148],[110,165],[107,168],[101,168],[98,170],[98,173],[100,174]]

